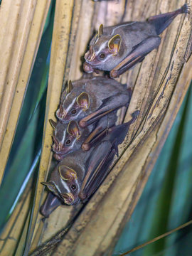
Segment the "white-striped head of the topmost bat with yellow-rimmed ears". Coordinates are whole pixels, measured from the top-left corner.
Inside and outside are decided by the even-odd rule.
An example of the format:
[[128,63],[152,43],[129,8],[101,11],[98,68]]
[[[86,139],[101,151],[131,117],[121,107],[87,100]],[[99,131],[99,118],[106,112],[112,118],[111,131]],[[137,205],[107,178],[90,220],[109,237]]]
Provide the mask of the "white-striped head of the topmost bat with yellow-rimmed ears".
[[84,70],[91,73],[94,68],[99,70],[111,70],[116,66],[122,38],[119,34],[107,36],[103,33],[101,25],[97,35],[90,42],[90,50],[85,53]]

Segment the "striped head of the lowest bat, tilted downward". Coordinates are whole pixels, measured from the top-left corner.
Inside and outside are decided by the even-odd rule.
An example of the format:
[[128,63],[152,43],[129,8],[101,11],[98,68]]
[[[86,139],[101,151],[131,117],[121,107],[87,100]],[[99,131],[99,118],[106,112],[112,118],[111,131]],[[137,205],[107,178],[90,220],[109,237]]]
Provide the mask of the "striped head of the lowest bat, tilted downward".
[[73,205],[80,201],[78,197],[80,185],[77,173],[69,166],[63,164],[56,166],[53,174],[50,176],[50,181],[42,183],[55,196],[58,196],[63,203]]

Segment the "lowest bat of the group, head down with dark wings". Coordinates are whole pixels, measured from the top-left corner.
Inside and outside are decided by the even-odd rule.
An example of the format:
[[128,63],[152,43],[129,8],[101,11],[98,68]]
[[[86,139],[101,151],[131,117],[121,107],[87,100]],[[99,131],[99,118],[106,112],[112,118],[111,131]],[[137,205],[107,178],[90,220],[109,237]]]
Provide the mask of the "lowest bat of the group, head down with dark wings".
[[89,151],[80,149],[60,161],[49,180],[43,182],[50,193],[41,206],[42,215],[48,217],[63,203],[74,205],[90,198],[109,173],[114,156],[118,154],[117,146],[123,142],[138,114],[136,111],[129,122],[109,128],[107,135]]

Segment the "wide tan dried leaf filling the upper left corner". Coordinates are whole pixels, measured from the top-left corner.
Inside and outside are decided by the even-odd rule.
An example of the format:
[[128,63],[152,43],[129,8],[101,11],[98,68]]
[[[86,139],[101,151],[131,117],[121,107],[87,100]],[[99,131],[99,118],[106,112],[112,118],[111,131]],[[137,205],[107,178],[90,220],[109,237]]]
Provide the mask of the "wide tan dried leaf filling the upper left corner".
[[0,59],[4,61],[0,63],[0,183],[49,6],[50,0],[1,3]]

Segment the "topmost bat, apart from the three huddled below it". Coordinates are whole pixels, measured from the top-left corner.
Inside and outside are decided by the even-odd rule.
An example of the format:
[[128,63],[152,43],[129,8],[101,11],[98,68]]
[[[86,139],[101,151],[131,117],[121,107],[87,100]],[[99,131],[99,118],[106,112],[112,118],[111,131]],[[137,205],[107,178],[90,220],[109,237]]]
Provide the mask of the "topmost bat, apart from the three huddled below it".
[[83,69],[87,73],[97,70],[110,71],[111,78],[117,78],[144,57],[159,47],[159,35],[178,14],[189,14],[188,4],[166,14],[148,18],[145,22],[129,21],[117,26],[100,28],[90,41],[85,53]]

